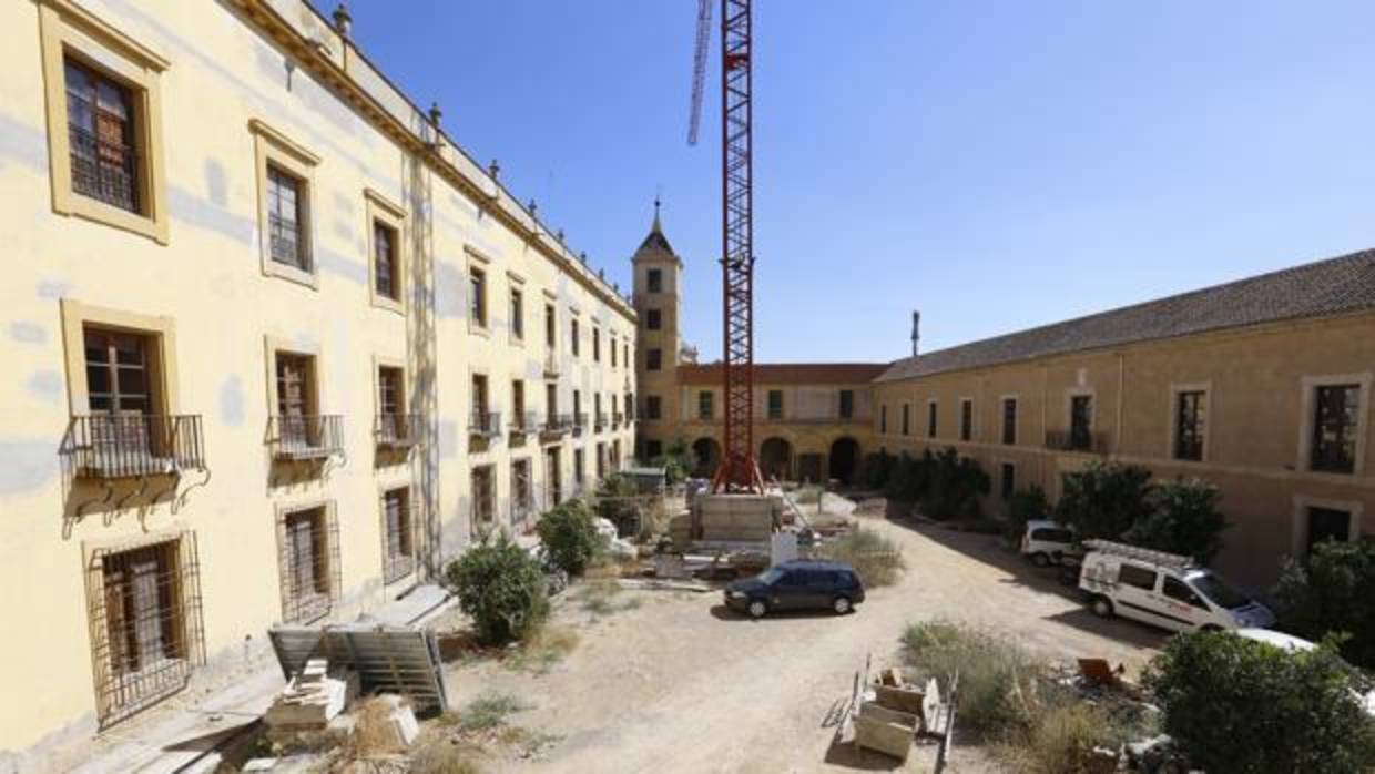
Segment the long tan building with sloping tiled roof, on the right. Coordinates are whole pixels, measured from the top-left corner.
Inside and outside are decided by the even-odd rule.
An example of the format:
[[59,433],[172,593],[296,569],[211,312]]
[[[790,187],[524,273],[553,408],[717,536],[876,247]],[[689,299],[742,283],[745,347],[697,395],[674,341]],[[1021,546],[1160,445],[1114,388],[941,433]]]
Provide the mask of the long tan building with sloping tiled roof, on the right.
[[1050,500],[1090,461],[1218,487],[1216,564],[1258,591],[1284,557],[1370,535],[1375,253],[898,360],[873,384],[890,454],[954,448],[984,511]]

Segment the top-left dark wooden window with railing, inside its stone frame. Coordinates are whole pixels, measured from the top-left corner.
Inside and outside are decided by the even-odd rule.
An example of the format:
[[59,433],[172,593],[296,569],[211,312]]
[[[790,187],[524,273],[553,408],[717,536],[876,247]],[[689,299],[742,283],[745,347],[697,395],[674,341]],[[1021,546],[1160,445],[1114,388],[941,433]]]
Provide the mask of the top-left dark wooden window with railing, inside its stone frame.
[[142,214],[133,95],[70,56],[65,70],[72,190]]

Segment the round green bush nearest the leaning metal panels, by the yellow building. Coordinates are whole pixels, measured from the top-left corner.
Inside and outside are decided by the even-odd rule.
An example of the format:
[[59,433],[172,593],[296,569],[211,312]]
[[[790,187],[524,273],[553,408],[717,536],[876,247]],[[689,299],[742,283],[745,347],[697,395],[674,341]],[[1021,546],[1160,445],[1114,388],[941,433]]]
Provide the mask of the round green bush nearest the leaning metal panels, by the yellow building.
[[484,645],[524,639],[549,615],[543,569],[506,536],[469,549],[444,568],[444,580]]

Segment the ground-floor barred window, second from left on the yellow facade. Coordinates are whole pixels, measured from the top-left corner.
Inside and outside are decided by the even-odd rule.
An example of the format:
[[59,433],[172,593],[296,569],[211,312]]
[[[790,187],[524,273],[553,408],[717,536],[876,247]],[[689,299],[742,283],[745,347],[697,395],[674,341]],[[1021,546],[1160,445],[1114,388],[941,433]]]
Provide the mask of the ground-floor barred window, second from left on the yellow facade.
[[341,568],[333,510],[319,505],[283,511],[278,520],[283,621],[319,620],[338,598]]

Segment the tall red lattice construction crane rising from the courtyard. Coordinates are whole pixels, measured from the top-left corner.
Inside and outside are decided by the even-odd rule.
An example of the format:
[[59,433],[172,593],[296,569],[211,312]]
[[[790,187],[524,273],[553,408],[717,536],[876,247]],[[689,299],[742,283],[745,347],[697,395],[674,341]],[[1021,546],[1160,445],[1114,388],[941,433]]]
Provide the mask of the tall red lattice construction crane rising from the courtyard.
[[[763,492],[755,459],[755,252],[754,133],[751,132],[751,0],[722,0],[720,14],[720,186],[723,298],[722,386],[726,422],[714,492]],[[697,0],[697,49],[693,62],[688,143],[696,144],[711,43],[715,0]]]

